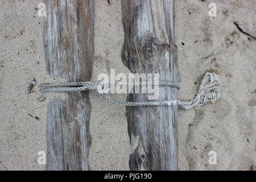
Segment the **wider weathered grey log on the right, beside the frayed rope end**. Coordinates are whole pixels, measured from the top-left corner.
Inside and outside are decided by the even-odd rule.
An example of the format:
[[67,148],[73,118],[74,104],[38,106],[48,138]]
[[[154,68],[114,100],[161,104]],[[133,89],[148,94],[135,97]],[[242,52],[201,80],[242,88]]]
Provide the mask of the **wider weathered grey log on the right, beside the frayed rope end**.
[[[152,13],[151,6],[156,7]],[[154,9],[155,10],[155,9]],[[174,0],[123,0],[122,61],[132,73],[159,73],[177,82]],[[130,93],[127,101],[147,101]],[[177,88],[160,87],[158,101],[177,99]],[[131,170],[177,169],[177,106],[127,106]]]

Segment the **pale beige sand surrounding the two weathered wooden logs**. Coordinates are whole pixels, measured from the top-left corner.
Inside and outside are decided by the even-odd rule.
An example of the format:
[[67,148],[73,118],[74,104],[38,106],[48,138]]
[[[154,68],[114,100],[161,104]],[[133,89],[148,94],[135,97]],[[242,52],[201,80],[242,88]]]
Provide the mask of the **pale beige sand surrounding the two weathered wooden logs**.
[[[44,63],[39,0],[0,1],[0,170],[44,170],[39,152],[46,151],[47,104],[38,89],[26,94],[32,78],[53,81]],[[180,100],[192,99],[201,76],[220,75],[221,100],[178,111],[180,170],[255,169],[255,41],[234,25],[256,35],[254,1],[214,1],[217,16],[208,15],[208,1],[175,2],[175,34],[179,56]],[[249,39],[250,38],[250,39]],[[98,74],[129,73],[122,64],[123,28],[120,1],[96,1],[95,57]],[[125,100],[125,95],[115,96]],[[90,93],[92,114],[90,167],[129,170],[129,137],[125,107]],[[30,115],[29,115],[30,114]],[[32,117],[31,117],[32,116]],[[36,119],[35,117],[38,117]],[[209,164],[209,152],[216,164]]]

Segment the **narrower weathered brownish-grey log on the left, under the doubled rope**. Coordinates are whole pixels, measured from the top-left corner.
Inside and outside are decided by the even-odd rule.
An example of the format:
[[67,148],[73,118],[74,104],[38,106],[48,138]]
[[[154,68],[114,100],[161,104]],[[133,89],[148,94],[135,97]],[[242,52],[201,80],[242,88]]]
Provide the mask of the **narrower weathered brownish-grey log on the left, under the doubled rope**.
[[[94,53],[94,1],[46,1],[44,51],[53,77],[89,81]],[[88,91],[70,92],[48,105],[47,170],[88,170]]]

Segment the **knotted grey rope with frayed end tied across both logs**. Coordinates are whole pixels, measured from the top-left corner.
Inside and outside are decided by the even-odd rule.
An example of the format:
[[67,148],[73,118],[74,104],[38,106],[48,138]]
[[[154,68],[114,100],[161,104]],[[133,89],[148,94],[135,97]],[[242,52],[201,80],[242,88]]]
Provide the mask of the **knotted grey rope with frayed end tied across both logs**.
[[[191,101],[180,101],[180,100],[170,100],[170,101],[144,101],[144,102],[127,102],[127,101],[118,101],[110,97],[106,92],[100,92],[99,90],[105,89],[106,86],[121,86],[121,85],[134,85],[134,86],[146,86],[146,85],[159,85],[159,86],[172,86],[179,89],[179,85],[175,82],[118,82],[118,83],[105,83],[104,85],[98,84],[98,82],[52,82],[39,85],[40,92],[42,96],[38,98],[39,101],[46,100],[46,92],[77,92],[83,90],[93,90],[94,92],[102,94],[108,101],[113,102],[118,105],[123,106],[172,106],[178,105],[183,109],[191,109],[197,105],[204,105],[208,102],[214,103],[220,98],[220,88],[218,87],[218,75],[216,73],[207,72],[202,78],[198,92],[195,98]],[[28,88],[31,85],[28,84]]]

